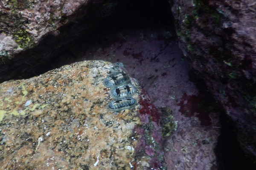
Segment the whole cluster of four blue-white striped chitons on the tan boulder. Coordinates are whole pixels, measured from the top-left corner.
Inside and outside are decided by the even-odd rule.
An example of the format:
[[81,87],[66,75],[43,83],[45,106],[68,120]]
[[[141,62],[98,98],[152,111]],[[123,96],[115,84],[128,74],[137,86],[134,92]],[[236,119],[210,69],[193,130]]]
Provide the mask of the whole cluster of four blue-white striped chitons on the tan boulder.
[[111,88],[110,96],[114,99],[108,103],[111,111],[122,111],[133,108],[137,101],[132,98],[137,92],[137,88],[131,84],[130,77],[125,73],[125,65],[116,62],[110,69],[110,74],[103,81],[107,88]]

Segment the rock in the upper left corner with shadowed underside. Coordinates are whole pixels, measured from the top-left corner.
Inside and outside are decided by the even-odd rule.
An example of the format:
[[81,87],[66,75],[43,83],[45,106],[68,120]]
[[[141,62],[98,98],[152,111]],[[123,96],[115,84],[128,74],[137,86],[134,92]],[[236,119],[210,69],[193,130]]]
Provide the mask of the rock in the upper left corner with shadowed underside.
[[117,0],[1,1],[0,82],[37,70],[60,47],[113,14],[118,4]]

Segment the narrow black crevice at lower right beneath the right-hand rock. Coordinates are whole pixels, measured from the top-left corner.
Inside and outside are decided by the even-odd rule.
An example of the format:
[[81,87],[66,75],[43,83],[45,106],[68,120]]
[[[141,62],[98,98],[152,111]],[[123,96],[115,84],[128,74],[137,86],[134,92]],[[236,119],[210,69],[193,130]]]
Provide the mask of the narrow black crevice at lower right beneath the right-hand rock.
[[237,141],[234,122],[225,114],[221,104],[213,99],[210,92],[207,91],[204,80],[200,79],[195,72],[195,70],[190,71],[190,80],[195,82],[200,94],[204,94],[205,97],[209,96],[208,99],[204,99],[208,103],[204,105],[204,109],[212,111],[213,107],[214,111],[221,113],[221,134],[215,147],[218,170],[256,170],[256,164],[253,164],[253,160],[243,152]]

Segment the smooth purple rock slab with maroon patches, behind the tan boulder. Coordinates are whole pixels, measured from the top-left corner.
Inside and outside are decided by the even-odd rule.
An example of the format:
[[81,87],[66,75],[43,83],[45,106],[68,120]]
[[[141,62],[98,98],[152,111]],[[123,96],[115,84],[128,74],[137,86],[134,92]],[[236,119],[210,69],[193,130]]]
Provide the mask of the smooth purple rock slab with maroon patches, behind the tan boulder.
[[172,27],[125,29],[111,34],[108,41],[89,42],[93,45],[86,50],[83,47],[88,42],[71,48],[77,60],[125,63],[160,112],[167,170],[216,169],[219,113],[213,111],[216,104],[209,100],[211,95],[189,79],[190,68]]

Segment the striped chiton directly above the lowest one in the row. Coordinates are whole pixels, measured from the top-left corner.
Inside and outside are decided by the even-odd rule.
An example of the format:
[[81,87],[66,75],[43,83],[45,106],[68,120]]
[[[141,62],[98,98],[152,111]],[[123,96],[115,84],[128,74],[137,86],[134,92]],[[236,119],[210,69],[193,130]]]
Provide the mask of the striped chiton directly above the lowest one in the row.
[[125,84],[118,86],[116,88],[112,88],[110,91],[110,94],[113,98],[118,97],[128,97],[136,93],[137,88],[134,87],[134,85],[131,84]]

